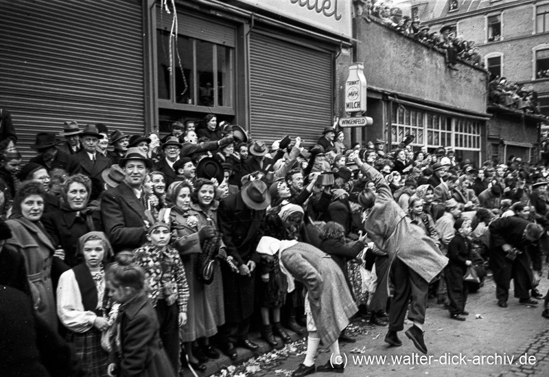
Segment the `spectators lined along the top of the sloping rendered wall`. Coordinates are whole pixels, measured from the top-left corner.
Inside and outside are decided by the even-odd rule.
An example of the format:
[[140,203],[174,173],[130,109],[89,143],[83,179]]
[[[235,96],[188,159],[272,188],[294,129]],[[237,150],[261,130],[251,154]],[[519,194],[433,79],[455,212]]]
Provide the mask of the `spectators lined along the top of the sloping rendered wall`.
[[463,36],[456,35],[449,25],[441,27],[439,32],[432,32],[429,26],[421,25],[419,18],[403,16],[400,8],[384,1],[355,1],[355,14],[368,21],[373,18],[384,25],[395,28],[401,34],[443,52],[450,69],[457,69],[456,62],[458,60],[484,67],[482,57],[478,54],[478,48],[474,47],[474,42],[466,41]]

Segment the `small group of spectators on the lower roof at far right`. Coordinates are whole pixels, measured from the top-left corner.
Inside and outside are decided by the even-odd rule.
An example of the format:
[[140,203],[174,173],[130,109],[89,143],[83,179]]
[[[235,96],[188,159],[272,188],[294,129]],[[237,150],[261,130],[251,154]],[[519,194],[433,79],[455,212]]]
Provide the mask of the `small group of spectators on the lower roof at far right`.
[[505,77],[493,76],[488,84],[488,101],[513,110],[539,114],[537,92],[532,87],[510,82]]

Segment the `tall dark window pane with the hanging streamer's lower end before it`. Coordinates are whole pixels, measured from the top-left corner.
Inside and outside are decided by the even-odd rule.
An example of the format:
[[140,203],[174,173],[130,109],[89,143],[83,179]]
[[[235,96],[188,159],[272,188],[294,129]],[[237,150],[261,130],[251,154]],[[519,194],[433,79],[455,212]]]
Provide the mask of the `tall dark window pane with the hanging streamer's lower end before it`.
[[[185,36],[177,38],[178,54],[176,59],[176,102],[196,104],[194,99],[193,40]],[[183,73],[181,74],[181,67]]]

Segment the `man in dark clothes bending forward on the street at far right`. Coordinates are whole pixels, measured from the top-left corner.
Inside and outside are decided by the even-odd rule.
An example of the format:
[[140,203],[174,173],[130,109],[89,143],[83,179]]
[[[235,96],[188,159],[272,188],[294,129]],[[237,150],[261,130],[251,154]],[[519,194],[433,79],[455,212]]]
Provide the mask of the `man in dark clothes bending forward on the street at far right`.
[[509,216],[494,220],[489,229],[490,266],[498,306],[507,307],[511,279],[515,284],[515,297],[519,299],[519,304],[537,305],[537,301],[530,298],[530,289],[535,279],[539,281],[541,273],[539,238],[544,234],[543,227],[524,218]]

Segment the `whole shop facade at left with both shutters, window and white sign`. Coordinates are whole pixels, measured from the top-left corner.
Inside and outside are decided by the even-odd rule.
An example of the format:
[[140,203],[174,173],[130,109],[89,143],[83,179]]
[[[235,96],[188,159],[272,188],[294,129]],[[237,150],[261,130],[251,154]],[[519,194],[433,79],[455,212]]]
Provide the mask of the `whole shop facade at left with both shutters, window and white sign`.
[[0,107],[24,154],[37,130],[67,120],[167,133],[209,113],[256,139],[311,145],[343,106],[348,1],[1,3]]

